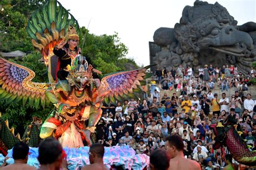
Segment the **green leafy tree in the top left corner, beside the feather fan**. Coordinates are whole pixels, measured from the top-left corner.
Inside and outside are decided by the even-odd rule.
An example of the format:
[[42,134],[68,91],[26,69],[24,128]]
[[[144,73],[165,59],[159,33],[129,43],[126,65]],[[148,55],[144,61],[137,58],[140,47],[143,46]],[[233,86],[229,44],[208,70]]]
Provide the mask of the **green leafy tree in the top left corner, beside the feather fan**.
[[25,27],[32,11],[44,0],[3,0],[0,2],[0,51],[32,51]]

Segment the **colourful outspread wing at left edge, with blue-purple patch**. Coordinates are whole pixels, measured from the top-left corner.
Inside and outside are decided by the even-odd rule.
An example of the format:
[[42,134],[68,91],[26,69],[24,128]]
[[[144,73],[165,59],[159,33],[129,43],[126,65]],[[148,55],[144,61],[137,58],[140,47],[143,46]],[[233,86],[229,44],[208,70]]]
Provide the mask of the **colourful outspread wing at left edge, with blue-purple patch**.
[[32,70],[9,62],[0,58],[0,100],[6,100],[7,103],[23,101],[25,105],[28,101],[30,106],[43,107],[49,100],[45,97],[45,91],[50,84],[33,83],[31,80],[35,77]]

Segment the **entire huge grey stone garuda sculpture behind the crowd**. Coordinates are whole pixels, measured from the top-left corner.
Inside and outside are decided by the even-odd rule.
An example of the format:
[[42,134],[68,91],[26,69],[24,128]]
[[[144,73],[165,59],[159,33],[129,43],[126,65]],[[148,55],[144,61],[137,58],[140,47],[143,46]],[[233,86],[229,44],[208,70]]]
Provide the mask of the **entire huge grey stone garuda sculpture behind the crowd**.
[[[150,62],[157,67],[235,65],[244,74],[256,60],[256,23],[238,26],[218,2],[185,6],[174,28],[159,28],[150,42]],[[156,68],[156,67],[155,67]]]

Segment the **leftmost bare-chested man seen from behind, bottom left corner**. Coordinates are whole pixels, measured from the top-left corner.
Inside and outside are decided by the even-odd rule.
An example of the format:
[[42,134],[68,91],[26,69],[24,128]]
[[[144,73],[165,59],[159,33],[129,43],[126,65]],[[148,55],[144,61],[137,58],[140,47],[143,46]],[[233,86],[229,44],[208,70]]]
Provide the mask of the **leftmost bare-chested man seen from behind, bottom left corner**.
[[35,167],[29,166],[26,164],[28,162],[28,153],[29,146],[23,142],[18,142],[14,145],[12,149],[12,158],[14,158],[14,164],[0,168],[1,170],[12,170],[12,169],[21,169],[21,170],[36,170]]

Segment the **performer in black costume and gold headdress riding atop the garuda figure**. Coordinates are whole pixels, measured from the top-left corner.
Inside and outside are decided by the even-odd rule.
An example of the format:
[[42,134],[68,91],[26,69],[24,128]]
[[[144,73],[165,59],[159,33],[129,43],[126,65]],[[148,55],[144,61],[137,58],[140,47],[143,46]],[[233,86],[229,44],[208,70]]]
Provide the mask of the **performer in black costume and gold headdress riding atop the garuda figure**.
[[[61,40],[53,49],[53,53],[59,57],[57,65],[57,77],[60,80],[65,80],[69,72],[65,71],[66,66],[71,64],[71,60],[76,58],[81,53],[81,49],[77,46],[79,43],[79,36],[73,26],[69,27],[69,31],[65,39]],[[102,72],[92,69],[97,74]]]

